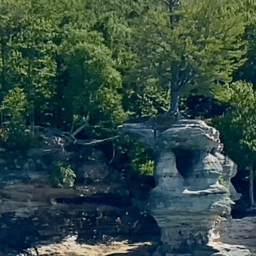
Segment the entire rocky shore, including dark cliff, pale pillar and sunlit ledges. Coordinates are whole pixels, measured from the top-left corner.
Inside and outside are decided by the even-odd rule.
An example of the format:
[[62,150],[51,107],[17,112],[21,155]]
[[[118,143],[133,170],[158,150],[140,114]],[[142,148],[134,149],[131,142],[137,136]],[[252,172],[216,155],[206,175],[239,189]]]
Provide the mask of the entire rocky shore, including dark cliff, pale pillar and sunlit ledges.
[[[124,177],[100,149],[67,150],[62,137],[44,138],[42,148],[29,149],[11,168],[1,164],[1,254],[255,255],[255,218],[230,218],[230,196],[239,198],[230,183],[236,166],[218,151],[218,131],[195,121],[156,132],[156,137],[148,127],[141,128],[136,130],[141,139],[155,147],[159,138],[164,150],[156,161],[156,184]],[[56,159],[68,159],[75,169],[75,188],[49,185],[47,169]],[[186,161],[191,166],[183,166]],[[224,221],[209,231],[220,215]]]

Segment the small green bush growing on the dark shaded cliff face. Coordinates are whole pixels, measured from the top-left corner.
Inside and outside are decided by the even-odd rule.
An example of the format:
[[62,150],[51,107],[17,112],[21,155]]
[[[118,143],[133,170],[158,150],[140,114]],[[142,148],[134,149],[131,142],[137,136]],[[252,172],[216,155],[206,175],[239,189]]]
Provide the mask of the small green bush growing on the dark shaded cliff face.
[[52,168],[48,171],[48,177],[53,188],[60,186],[72,188],[75,184],[74,171],[70,166],[60,162],[53,162]]

